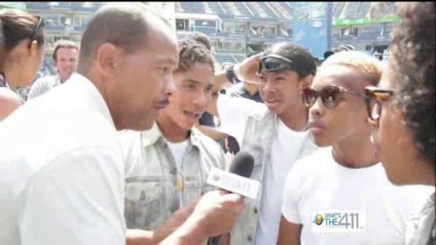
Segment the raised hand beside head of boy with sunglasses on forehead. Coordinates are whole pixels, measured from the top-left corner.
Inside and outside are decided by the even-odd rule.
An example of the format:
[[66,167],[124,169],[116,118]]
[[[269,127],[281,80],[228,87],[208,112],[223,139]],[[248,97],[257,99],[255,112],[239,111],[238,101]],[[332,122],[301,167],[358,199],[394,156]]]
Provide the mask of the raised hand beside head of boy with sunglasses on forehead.
[[263,53],[261,52],[245,59],[241,63],[235,64],[233,66],[233,72],[237,75],[237,77],[244,83],[257,84],[256,73],[259,66],[262,56]]

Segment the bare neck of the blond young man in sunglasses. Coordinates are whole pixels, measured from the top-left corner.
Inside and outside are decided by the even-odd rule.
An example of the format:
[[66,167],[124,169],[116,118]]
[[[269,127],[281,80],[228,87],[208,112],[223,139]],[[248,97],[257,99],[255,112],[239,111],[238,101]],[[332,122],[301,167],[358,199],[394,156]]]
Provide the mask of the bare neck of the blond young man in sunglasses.
[[351,135],[332,146],[332,157],[339,164],[360,169],[378,163],[375,147],[371,144],[370,132]]

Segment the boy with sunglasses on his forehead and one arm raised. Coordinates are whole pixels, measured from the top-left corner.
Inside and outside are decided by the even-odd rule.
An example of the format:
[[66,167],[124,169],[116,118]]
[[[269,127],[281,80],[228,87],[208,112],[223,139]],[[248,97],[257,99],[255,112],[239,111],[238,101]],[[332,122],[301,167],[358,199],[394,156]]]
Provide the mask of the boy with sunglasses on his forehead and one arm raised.
[[[241,151],[255,158],[252,179],[262,182],[257,199],[245,199],[245,210],[231,233],[231,244],[275,244],[282,188],[296,159],[312,152],[307,108],[301,91],[310,86],[315,60],[303,47],[281,42],[249,58],[215,78],[215,91],[230,82],[255,83],[264,103],[221,94],[216,111],[220,131],[233,136]],[[257,73],[257,76],[256,76]],[[226,79],[227,78],[227,79]]]

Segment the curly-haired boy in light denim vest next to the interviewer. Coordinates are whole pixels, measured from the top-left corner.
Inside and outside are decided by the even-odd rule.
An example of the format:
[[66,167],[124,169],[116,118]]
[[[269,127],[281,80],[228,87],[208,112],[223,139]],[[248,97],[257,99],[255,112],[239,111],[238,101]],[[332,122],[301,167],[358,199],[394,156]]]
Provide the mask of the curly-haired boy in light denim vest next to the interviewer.
[[206,183],[210,169],[225,169],[218,143],[193,127],[210,102],[211,54],[192,39],[180,40],[179,50],[179,66],[173,73],[177,90],[168,107],[150,130],[121,134],[126,228],[156,231],[156,244],[167,235],[177,210],[214,189]]

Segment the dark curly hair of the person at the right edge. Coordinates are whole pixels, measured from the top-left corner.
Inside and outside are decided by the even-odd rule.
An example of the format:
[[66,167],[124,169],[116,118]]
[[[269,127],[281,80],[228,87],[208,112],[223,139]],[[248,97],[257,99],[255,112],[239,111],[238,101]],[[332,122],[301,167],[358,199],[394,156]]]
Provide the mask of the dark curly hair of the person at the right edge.
[[[435,169],[435,3],[399,3],[389,66],[420,158]],[[436,169],[435,169],[436,171]]]

